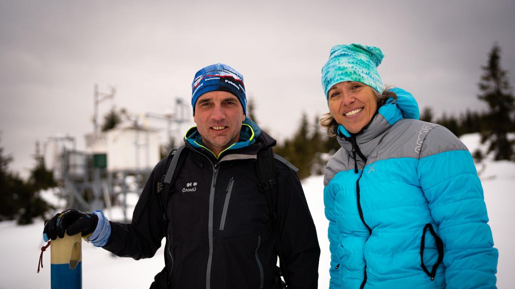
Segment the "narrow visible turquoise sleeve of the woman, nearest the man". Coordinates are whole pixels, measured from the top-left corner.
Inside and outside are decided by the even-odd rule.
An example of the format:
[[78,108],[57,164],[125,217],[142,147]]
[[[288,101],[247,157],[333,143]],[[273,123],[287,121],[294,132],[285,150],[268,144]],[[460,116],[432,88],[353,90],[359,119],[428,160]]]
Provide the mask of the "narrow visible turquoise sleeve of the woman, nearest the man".
[[325,206],[325,218],[329,220],[328,238],[329,250],[331,251],[331,267],[329,268],[329,288],[341,288],[340,277],[338,275],[338,266],[340,262],[339,253],[339,231],[336,225],[336,211],[334,210],[335,193],[330,184],[324,187],[323,202]]

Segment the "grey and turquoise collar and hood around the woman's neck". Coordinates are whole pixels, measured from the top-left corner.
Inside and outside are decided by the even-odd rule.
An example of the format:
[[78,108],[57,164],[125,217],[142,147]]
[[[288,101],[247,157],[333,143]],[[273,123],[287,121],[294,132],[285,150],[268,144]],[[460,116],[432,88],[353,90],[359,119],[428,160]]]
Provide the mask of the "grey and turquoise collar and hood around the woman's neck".
[[343,125],[338,126],[337,140],[346,151],[352,151],[352,138],[355,138],[359,150],[368,158],[372,150],[379,145],[380,135],[384,134],[394,123],[403,118],[419,119],[418,103],[410,93],[402,88],[392,88],[397,94],[397,101],[389,98],[385,104],[379,107],[370,123],[356,134],[349,133]]

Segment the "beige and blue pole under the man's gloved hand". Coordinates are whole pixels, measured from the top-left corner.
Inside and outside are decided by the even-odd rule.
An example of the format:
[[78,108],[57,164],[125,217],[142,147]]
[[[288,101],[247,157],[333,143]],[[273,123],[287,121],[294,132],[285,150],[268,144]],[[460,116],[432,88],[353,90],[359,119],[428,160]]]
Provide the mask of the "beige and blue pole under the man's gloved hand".
[[52,240],[50,244],[50,282],[52,289],[82,288],[81,234]]

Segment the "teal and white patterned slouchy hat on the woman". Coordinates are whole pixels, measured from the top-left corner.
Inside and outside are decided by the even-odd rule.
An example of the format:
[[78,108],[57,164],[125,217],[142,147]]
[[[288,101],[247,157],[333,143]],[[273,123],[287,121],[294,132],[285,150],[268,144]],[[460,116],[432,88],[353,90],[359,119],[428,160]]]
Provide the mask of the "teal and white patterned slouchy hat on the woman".
[[325,98],[329,89],[342,81],[357,81],[383,93],[383,81],[377,66],[383,60],[381,49],[362,44],[340,44],[331,48],[329,60],[322,67],[322,87]]

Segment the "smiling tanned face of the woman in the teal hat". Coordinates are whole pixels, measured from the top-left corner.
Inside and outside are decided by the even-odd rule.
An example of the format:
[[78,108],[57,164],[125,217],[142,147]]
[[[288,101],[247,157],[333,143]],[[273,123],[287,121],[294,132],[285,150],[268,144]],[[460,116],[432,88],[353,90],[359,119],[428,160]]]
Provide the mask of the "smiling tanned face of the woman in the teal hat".
[[351,133],[361,131],[377,110],[373,88],[356,81],[339,82],[328,93],[329,111]]

